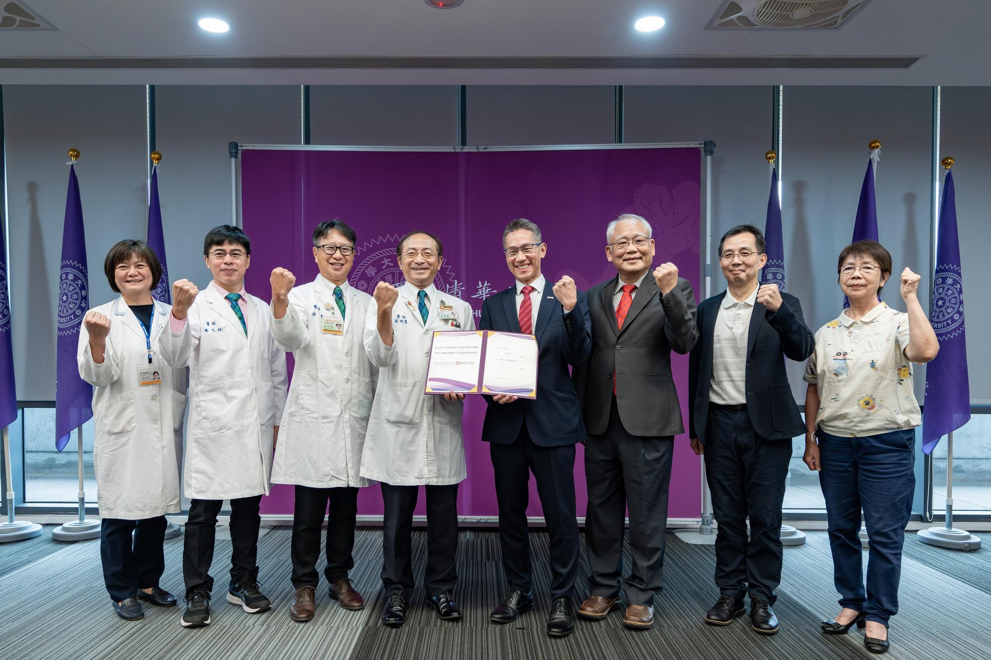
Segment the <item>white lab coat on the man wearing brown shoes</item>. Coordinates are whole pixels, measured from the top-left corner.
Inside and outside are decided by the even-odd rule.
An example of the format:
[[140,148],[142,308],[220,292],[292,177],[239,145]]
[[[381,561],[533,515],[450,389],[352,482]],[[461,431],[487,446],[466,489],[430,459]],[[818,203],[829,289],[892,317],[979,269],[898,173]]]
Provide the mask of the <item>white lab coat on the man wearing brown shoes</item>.
[[314,489],[368,486],[362,448],[379,370],[369,362],[362,333],[372,296],[345,284],[344,334],[323,331],[340,320],[334,283],[317,275],[289,291],[289,307],[272,317],[272,334],[295,365],[275,445],[274,484]]

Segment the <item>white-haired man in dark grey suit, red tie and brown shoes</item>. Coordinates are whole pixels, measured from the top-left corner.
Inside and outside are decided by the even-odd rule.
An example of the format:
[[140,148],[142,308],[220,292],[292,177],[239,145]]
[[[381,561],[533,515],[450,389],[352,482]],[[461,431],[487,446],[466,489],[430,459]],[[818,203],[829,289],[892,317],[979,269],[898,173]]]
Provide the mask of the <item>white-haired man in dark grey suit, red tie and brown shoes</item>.
[[606,227],[617,275],[589,290],[592,357],[575,371],[589,441],[585,539],[592,595],[578,613],[604,618],[619,605],[622,537],[629,510],[632,566],[623,581],[623,624],[649,628],[661,592],[674,436],[683,432],[671,351],[695,345],[695,296],[674,264],[651,274],[654,240],[638,215]]

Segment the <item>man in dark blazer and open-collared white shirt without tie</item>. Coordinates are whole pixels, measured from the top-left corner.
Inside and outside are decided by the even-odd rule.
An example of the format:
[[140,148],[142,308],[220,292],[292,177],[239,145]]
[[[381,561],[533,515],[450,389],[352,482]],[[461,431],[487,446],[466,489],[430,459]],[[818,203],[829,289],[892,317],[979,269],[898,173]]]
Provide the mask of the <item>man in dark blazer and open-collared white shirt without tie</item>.
[[689,372],[689,435],[695,453],[706,457],[718,523],[719,600],[706,622],[732,622],[749,592],[751,627],[774,634],[785,477],[792,438],[805,433],[785,358],[805,361],[815,341],[799,299],[757,281],[767,262],[759,229],[733,227],[719,241],[718,255],[728,286],[699,305],[702,336]]

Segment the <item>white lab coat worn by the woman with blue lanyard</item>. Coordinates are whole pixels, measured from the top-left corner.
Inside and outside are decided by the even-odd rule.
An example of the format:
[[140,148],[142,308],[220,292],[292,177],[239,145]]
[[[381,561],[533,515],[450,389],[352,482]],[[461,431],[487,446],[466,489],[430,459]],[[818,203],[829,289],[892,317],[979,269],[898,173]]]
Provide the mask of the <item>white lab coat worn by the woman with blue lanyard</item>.
[[[93,362],[89,333],[79,327],[79,377],[93,385],[93,468],[97,502],[105,518],[142,520],[179,512],[179,457],[185,414],[185,370],[165,367],[159,338],[169,305],[155,303],[153,365],[138,317],[123,296],[93,307],[110,319],[103,362]],[[153,367],[161,385],[139,385],[138,368]]]

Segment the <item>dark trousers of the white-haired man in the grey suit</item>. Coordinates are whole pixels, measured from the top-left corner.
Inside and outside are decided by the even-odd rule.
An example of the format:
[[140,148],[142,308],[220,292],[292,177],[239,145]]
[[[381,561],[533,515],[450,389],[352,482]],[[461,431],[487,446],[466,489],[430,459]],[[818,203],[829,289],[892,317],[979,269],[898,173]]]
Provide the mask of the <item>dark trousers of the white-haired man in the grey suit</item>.
[[626,599],[630,605],[653,605],[661,593],[673,456],[672,436],[627,433],[612,397],[606,433],[590,435],[585,445],[585,541],[593,596],[614,598],[618,593],[627,507],[632,566],[623,581]]

